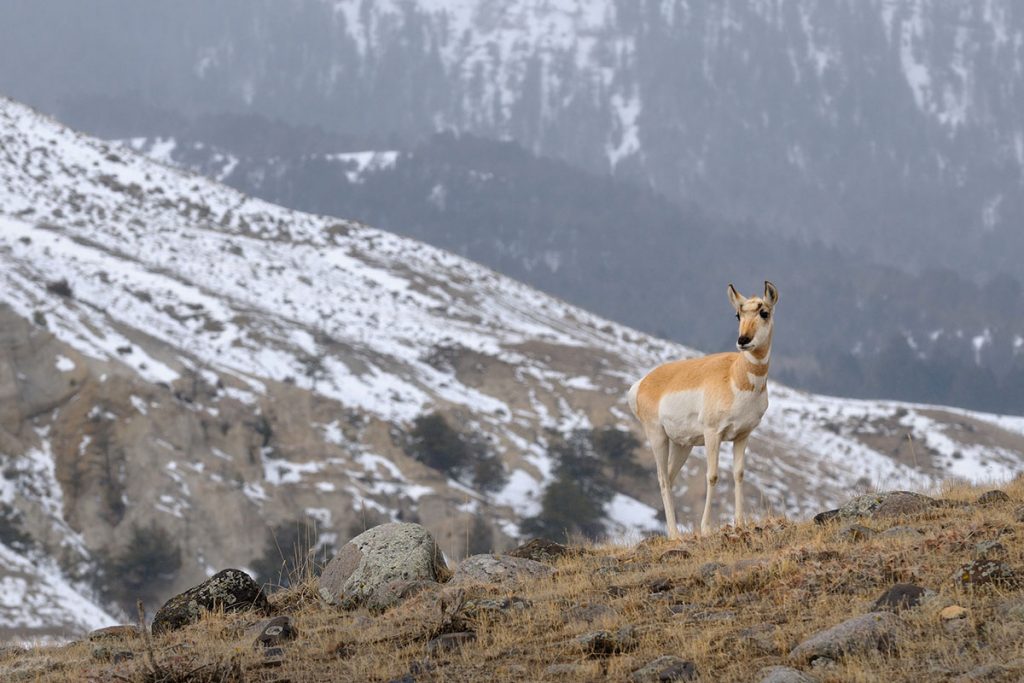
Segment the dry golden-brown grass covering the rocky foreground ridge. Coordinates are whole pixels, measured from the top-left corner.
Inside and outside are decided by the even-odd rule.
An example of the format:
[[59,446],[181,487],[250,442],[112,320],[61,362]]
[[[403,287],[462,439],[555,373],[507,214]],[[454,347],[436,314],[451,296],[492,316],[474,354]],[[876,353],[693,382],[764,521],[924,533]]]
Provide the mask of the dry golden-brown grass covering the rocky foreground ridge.
[[[982,490],[950,486],[938,495],[966,504]],[[38,681],[390,681],[412,673],[416,681],[500,683],[624,681],[654,657],[674,654],[694,661],[701,680],[754,681],[771,665],[809,670],[788,660],[791,648],[869,611],[892,584],[912,582],[938,596],[901,613],[896,651],[848,657],[814,675],[843,682],[942,681],[1001,665],[1005,670],[984,680],[1017,681],[1024,679],[1024,591],[965,592],[951,579],[974,558],[975,545],[990,540],[998,540],[1005,561],[1024,573],[1024,528],[1016,518],[1024,483],[1004,490],[1011,501],[994,506],[950,505],[864,522],[879,530],[913,526],[923,533],[919,539],[842,541],[841,524],[767,519],[682,543],[596,546],[561,560],[551,580],[515,589],[441,586],[383,614],[328,608],[308,580],[272,596],[275,609],[290,614],[300,634],[278,666],[265,666],[253,649],[255,617],[238,614],[210,614],[195,627],[155,638],[152,658],[137,640],[40,648],[13,660],[25,680]],[[712,562],[725,569],[712,572]],[[517,596],[531,606],[492,614],[474,610],[473,600],[484,596]],[[950,604],[966,607],[968,618],[944,624],[939,611]],[[609,609],[592,623],[567,614],[587,605]],[[1022,607],[1014,611],[1014,605]],[[591,658],[573,642],[587,632],[627,626],[636,630],[636,646],[627,652]],[[475,641],[428,653],[431,638],[466,630]],[[132,658],[104,658],[125,656],[117,654],[122,651]],[[5,657],[0,666],[11,661]],[[546,673],[555,664],[577,669]]]

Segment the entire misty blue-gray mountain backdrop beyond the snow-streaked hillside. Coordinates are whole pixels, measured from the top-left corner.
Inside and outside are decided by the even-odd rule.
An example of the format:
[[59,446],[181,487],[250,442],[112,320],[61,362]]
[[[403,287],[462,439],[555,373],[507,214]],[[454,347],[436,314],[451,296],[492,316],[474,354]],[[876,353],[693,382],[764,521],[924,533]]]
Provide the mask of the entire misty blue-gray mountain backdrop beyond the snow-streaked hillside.
[[1024,413],[1012,0],[8,2],[0,92],[709,351],[768,278],[779,379]]

